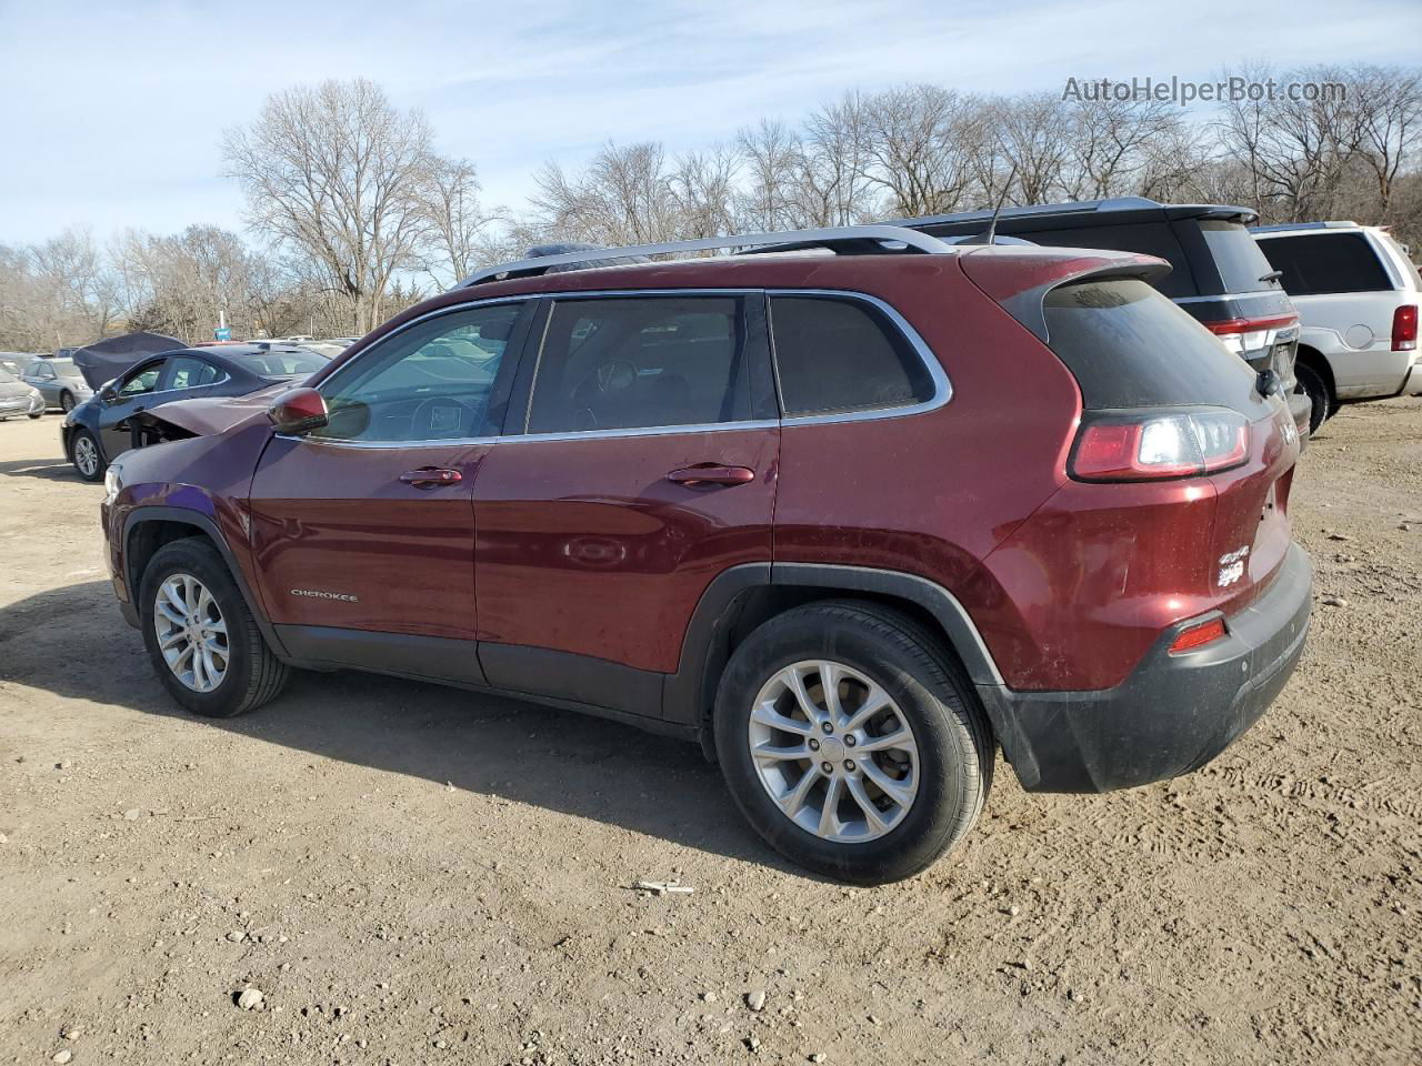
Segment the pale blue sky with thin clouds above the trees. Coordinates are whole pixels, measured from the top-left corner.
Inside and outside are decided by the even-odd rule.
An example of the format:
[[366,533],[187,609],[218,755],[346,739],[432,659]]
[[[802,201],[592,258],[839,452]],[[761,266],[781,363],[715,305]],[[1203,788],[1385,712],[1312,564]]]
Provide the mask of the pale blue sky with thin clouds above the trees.
[[[1257,26],[1250,23],[1257,13]],[[518,210],[547,161],[707,146],[845,90],[1214,80],[1247,60],[1418,64],[1418,0],[0,0],[0,243],[88,227],[245,232],[222,131],[270,94],[368,77]]]

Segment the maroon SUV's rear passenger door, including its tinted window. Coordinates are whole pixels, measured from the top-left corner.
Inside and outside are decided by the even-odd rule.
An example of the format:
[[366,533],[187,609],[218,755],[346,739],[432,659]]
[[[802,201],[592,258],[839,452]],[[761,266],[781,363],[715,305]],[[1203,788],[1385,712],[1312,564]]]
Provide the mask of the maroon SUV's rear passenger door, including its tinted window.
[[769,563],[764,294],[560,296],[475,485],[492,685],[660,712],[712,578]]

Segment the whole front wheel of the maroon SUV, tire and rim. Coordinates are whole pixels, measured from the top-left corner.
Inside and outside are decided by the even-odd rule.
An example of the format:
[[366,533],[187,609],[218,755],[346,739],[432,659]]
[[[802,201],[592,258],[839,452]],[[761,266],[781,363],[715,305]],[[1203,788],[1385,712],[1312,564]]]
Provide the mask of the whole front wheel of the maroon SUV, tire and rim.
[[164,544],[144,570],[144,644],[164,688],[193,714],[230,718],[286,684],[226,563],[210,543]]

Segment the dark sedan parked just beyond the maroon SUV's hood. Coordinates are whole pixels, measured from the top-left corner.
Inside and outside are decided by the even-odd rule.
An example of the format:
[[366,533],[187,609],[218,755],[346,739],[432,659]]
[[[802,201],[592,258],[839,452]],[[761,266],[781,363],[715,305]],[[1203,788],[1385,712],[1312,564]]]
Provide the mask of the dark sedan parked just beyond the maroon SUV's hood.
[[64,455],[95,482],[129,448],[165,439],[149,415],[164,404],[198,397],[243,397],[310,377],[326,358],[306,348],[182,348],[141,361],[70,411],[61,428]]

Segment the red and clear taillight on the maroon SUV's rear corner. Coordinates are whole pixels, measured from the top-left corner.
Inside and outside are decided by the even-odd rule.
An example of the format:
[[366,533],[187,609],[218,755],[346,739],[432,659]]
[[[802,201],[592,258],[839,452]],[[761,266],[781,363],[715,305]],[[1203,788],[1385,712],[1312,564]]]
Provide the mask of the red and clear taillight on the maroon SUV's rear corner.
[[1247,456],[1249,421],[1236,411],[1088,414],[1069,469],[1085,482],[1140,482],[1212,473]]

